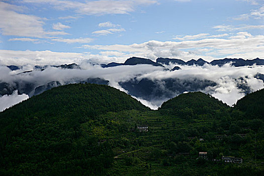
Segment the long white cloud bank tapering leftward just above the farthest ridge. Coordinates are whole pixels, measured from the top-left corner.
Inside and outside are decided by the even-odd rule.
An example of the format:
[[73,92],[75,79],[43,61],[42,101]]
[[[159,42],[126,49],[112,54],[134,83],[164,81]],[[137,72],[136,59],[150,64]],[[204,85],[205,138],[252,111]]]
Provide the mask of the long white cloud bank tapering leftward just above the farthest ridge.
[[[138,56],[152,60],[155,60],[157,57],[170,57],[181,58],[183,60],[204,58],[211,61],[215,58],[233,55],[247,56],[246,58],[261,58],[264,56],[263,41],[263,35],[253,36],[247,32],[239,32],[235,35],[230,35],[227,39],[206,38],[181,42],[152,40],[131,45],[82,45],[82,47],[100,51],[117,51],[124,53],[126,57]],[[250,53],[251,56],[247,53]],[[119,60],[124,61],[125,59],[127,58],[119,57]]]

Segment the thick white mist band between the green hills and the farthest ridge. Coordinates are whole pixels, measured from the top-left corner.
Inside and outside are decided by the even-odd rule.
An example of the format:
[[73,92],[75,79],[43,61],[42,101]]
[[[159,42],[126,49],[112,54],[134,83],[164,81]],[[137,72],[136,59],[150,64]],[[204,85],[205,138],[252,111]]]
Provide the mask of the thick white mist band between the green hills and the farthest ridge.
[[[155,87],[156,90],[165,92],[169,95],[167,97],[152,96],[151,99],[148,100],[144,99],[144,97],[132,95],[143,105],[148,106],[151,109],[157,109],[163,102],[178,96],[181,93],[190,92],[190,90],[193,90],[190,86],[194,81],[197,82],[194,82],[196,84],[199,84],[199,82],[203,83],[203,81],[213,82],[205,86],[200,86],[202,88],[198,87],[195,91],[210,94],[229,106],[235,104],[237,100],[241,99],[245,94],[264,87],[263,80],[255,77],[257,73],[264,74],[264,67],[256,65],[233,67],[231,64],[225,64],[222,67],[219,67],[210,64],[205,64],[203,66],[170,64],[161,67],[148,64],[138,64],[102,68],[100,65],[84,61],[79,64],[79,66],[81,69],[47,67],[43,71],[33,70],[34,67],[32,65],[23,66],[21,69],[15,71],[10,70],[6,66],[1,66],[0,83],[6,82],[9,83],[10,86],[23,86],[30,84],[32,90],[31,92],[29,91],[27,95],[22,94],[23,92],[21,93],[22,95],[19,95],[19,92],[14,92],[9,96],[4,95],[0,98],[0,110],[4,110],[22,100],[26,100],[28,97],[34,95],[36,87],[45,85],[51,81],[59,81],[59,83],[63,85],[85,81],[87,78],[101,78],[108,80],[108,85],[132,95],[129,90],[126,90],[121,86],[120,82],[147,79],[155,82],[155,86],[157,86]],[[170,71],[174,66],[179,66],[182,69]],[[29,70],[32,71],[24,72]],[[179,84],[177,86],[181,86],[182,90],[167,89],[165,86],[165,80],[168,78],[171,80],[177,79],[177,83]],[[187,81],[189,82],[189,85],[186,84]]]

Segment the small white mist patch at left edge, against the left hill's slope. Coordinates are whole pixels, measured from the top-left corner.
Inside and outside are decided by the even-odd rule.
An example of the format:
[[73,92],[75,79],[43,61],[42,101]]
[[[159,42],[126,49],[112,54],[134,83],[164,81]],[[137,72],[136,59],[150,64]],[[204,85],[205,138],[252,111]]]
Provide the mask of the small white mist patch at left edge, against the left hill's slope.
[[18,91],[14,91],[14,93],[9,96],[4,95],[3,97],[0,97],[0,112],[24,100],[27,100],[28,98],[29,96],[26,94],[18,95]]

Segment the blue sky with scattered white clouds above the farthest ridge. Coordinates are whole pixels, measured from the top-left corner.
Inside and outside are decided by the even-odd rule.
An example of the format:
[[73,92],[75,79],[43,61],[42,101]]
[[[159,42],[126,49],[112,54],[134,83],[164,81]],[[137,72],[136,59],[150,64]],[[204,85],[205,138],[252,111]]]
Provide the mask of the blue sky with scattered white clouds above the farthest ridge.
[[264,58],[263,0],[0,0],[0,64]]

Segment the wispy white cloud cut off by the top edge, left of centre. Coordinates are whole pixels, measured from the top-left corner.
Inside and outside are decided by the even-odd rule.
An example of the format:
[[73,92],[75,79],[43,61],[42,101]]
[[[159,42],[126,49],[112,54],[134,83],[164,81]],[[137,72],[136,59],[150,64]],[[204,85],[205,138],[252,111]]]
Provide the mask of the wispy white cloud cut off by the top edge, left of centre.
[[128,14],[135,11],[137,6],[147,6],[156,4],[154,0],[100,0],[86,1],[85,3],[75,1],[58,0],[24,0],[25,3],[50,4],[58,10],[73,9],[76,13],[82,15],[107,15],[107,14]]

